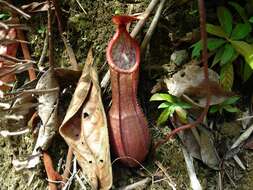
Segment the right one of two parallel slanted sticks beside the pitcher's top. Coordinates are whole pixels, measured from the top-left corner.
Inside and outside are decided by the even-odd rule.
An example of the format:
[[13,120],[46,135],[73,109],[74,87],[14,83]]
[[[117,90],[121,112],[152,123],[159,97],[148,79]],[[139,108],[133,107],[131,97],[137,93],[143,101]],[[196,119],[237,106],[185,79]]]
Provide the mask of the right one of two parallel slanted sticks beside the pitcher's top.
[[163,10],[165,2],[166,2],[166,0],[161,0],[159,6],[157,8],[157,11],[155,13],[155,16],[154,16],[154,18],[152,20],[152,23],[150,24],[150,27],[149,27],[149,29],[148,29],[148,31],[147,31],[147,33],[146,33],[146,35],[145,35],[142,43],[141,43],[141,52],[142,53],[146,49],[146,47],[147,47],[147,45],[148,45],[148,43],[149,43],[149,41],[150,41],[150,39],[151,39],[154,31],[155,31],[155,28],[157,26],[159,18],[160,18],[161,14],[162,14],[162,10]]

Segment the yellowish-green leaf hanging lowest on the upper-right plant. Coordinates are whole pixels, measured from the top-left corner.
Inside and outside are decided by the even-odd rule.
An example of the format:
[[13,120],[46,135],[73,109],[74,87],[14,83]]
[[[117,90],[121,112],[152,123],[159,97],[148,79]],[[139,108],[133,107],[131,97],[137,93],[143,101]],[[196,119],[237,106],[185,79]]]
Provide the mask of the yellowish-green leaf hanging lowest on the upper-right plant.
[[232,62],[227,63],[221,67],[220,84],[226,91],[231,91],[234,83],[234,67]]

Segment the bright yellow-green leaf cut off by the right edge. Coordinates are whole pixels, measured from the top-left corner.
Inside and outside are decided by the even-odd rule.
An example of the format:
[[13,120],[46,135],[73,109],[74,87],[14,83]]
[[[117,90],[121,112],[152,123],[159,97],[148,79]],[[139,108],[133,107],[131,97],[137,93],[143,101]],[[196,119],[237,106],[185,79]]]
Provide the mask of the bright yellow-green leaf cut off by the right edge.
[[231,40],[230,43],[244,57],[251,69],[253,69],[253,46],[244,41]]

